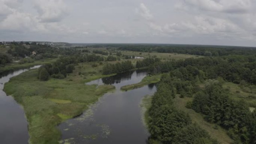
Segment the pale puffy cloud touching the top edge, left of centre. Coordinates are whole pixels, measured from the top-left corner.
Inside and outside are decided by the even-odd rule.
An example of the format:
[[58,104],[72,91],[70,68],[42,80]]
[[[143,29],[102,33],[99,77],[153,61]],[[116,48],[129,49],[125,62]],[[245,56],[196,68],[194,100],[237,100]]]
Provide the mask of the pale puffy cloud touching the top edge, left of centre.
[[68,8],[63,0],[38,0],[35,8],[41,22],[59,22],[68,14]]

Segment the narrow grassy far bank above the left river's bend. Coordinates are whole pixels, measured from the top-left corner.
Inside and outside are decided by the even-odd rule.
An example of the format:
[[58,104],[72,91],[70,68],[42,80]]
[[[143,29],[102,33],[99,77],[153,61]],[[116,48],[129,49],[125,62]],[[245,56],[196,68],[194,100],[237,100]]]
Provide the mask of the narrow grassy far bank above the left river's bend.
[[5,65],[4,67],[0,67],[0,74],[6,71],[13,71],[13,70],[33,67],[34,65],[49,64],[56,60],[57,59],[42,59],[39,61],[34,61],[33,63],[24,63],[24,64],[18,64],[18,62],[13,62],[11,64]]

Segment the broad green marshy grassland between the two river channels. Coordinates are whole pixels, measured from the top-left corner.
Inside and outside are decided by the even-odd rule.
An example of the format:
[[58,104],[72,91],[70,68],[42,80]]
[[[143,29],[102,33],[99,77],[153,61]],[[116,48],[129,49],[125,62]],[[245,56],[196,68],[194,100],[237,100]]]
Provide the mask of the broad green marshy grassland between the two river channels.
[[58,144],[58,124],[81,114],[89,104],[115,88],[85,85],[86,81],[104,77],[100,68],[81,63],[65,79],[51,78],[46,82],[37,79],[37,70],[30,70],[6,83],[4,91],[24,107],[31,144]]

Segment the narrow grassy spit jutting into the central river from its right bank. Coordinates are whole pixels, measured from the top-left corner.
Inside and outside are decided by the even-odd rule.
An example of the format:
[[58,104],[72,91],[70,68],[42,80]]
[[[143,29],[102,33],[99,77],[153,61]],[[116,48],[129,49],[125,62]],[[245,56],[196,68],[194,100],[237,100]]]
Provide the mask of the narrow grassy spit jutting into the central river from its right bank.
[[132,89],[141,88],[141,87],[143,87],[145,85],[149,85],[151,83],[157,83],[157,82],[160,81],[161,76],[162,76],[162,74],[158,74],[158,75],[155,75],[155,76],[146,76],[139,83],[122,86],[121,90],[122,91],[128,91],[128,90],[132,90]]

